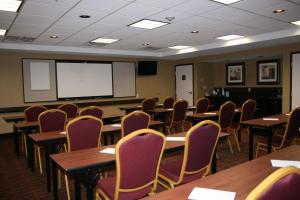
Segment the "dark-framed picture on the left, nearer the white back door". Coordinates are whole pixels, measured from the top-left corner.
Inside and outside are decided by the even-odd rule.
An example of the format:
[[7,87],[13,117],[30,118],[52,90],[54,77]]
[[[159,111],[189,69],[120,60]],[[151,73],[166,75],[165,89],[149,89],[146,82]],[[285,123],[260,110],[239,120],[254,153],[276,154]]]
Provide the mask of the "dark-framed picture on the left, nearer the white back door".
[[234,63],[226,65],[227,85],[245,84],[245,63]]

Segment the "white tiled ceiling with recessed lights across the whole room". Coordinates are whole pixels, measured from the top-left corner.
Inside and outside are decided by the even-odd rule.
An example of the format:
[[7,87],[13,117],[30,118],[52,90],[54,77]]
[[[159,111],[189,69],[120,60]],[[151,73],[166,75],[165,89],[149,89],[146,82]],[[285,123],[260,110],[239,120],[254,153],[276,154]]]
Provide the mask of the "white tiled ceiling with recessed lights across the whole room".
[[[274,14],[276,9],[285,12]],[[141,19],[170,24],[152,30],[128,26]],[[0,11],[0,28],[8,29],[0,36],[0,49],[178,59],[215,49],[219,53],[253,44],[300,42],[300,27],[290,23],[297,20],[300,0],[242,0],[230,5],[211,0],[26,0],[17,13]],[[193,30],[199,33],[190,33]],[[228,34],[246,37],[216,39]],[[89,44],[98,37],[120,40]],[[192,48],[168,48],[175,45]]]

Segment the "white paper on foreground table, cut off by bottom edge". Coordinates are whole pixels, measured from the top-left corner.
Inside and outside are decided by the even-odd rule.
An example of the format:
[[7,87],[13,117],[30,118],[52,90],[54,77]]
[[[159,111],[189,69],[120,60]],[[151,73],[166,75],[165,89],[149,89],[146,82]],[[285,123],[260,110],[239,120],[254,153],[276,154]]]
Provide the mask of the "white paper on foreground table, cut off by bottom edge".
[[235,192],[195,187],[190,193],[189,200],[234,200]]

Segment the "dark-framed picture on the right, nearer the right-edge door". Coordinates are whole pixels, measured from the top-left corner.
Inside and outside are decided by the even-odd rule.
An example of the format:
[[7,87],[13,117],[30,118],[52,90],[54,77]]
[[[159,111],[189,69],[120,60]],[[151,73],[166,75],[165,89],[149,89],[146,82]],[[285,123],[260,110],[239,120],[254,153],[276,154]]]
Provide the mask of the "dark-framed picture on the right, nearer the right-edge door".
[[257,62],[257,84],[279,84],[279,60]]

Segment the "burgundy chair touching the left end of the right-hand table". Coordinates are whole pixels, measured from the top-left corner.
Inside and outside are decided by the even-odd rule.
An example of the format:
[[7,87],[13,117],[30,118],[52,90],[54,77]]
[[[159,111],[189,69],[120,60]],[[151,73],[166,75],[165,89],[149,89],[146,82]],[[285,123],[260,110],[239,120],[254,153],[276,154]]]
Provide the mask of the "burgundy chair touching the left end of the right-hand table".
[[232,134],[234,135],[236,144],[237,144],[237,148],[238,151],[241,152],[241,148],[237,139],[237,135],[239,133],[239,131],[243,128],[245,130],[247,130],[247,132],[249,133],[249,128],[248,127],[241,127],[240,126],[240,122],[242,121],[247,121],[250,119],[253,119],[253,115],[254,112],[256,110],[256,101],[254,101],[253,99],[248,99],[247,101],[245,101],[242,105],[242,112],[241,112],[241,116],[240,116],[240,120],[238,123],[232,123],[231,129],[232,129]]

